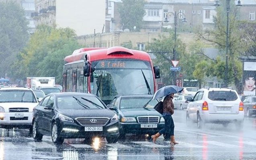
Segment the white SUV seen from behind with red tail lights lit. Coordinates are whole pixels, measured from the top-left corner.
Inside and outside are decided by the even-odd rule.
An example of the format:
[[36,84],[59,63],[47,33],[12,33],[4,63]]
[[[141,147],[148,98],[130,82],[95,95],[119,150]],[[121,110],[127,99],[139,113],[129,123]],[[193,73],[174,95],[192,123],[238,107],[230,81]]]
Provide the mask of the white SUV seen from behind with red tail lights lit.
[[244,121],[244,104],[236,90],[227,88],[200,89],[186,109],[186,122],[196,122],[197,128],[205,123],[227,126],[234,122],[238,128]]

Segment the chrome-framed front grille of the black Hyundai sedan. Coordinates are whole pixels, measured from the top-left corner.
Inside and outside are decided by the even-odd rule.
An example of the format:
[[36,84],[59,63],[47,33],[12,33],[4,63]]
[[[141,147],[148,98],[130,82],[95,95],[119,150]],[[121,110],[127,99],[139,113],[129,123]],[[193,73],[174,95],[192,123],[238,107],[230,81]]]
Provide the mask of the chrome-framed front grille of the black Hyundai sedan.
[[105,126],[109,118],[76,118],[82,126]]

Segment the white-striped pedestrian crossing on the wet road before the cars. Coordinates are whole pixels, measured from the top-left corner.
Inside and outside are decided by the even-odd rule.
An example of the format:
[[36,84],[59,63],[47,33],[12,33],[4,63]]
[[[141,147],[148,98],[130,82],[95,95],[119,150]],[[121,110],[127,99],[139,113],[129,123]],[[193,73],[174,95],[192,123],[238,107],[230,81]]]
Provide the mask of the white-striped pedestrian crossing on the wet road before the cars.
[[[24,144],[16,143],[16,142],[0,142],[0,145],[5,146],[5,148],[11,148],[11,149],[18,149],[20,146],[23,146],[24,148],[57,148],[59,146],[56,146],[52,142],[46,140],[42,142],[24,142]],[[256,142],[251,141],[233,141],[229,143],[225,142],[218,142],[218,141],[197,141],[196,143],[192,142],[182,142],[179,141],[179,144],[175,145],[175,148],[240,148],[242,146],[247,147],[256,147]],[[107,142],[103,141],[99,143],[99,146],[101,148],[116,148],[116,149],[123,149],[123,148],[170,148],[170,141],[162,141],[158,140],[157,144],[154,144],[153,142],[149,141],[130,141],[130,142],[117,142],[114,144],[108,144]],[[94,144],[70,144],[66,143],[64,141],[63,143],[64,148],[95,148]]]

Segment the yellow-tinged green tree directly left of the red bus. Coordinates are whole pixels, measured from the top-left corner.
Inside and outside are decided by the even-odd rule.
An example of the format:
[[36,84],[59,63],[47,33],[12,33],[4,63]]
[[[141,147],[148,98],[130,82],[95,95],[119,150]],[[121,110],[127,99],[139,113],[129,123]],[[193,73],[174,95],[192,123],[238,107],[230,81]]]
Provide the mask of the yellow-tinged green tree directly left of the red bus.
[[39,26],[12,67],[18,79],[27,76],[53,76],[62,84],[64,58],[81,46],[70,28]]

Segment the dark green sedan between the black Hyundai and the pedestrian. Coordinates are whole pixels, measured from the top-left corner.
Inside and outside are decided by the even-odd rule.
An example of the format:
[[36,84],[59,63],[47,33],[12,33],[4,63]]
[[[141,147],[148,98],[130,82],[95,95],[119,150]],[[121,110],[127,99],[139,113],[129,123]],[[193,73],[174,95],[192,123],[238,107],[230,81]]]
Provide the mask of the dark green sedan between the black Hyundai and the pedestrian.
[[[152,96],[117,96],[108,105],[119,117],[119,134],[156,134],[164,128],[164,118],[153,107],[158,103]],[[151,101],[150,101],[151,100]],[[144,107],[144,105],[147,106]]]

